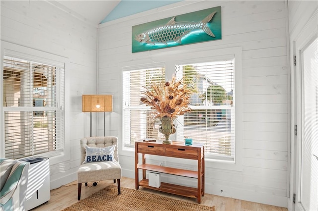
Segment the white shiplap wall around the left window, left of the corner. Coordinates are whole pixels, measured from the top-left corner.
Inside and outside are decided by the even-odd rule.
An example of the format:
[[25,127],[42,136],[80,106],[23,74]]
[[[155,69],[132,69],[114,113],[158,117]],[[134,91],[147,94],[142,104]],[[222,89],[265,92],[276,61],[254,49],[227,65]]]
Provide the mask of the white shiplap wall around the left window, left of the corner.
[[71,147],[65,153],[70,159],[51,163],[51,189],[76,180],[79,139],[89,136],[89,114],[81,112],[81,96],[96,93],[97,26],[86,24],[48,1],[1,1],[0,38],[69,58],[66,69],[69,104],[66,106],[70,112],[67,113],[69,139],[66,144]]

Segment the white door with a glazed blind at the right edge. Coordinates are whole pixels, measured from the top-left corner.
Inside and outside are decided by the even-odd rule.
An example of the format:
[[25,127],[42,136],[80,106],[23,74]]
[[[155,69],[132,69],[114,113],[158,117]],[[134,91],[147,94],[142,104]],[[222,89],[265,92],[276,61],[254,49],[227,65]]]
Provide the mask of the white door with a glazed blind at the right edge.
[[318,210],[318,38],[299,51],[301,64],[296,210]]

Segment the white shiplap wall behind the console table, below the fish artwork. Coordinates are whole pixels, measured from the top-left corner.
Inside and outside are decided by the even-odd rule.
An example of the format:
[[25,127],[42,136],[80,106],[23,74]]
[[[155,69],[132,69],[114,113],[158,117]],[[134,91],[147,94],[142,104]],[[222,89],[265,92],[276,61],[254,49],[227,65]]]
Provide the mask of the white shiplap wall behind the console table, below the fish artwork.
[[[220,6],[222,40],[131,53],[132,26]],[[121,139],[121,67],[176,53],[242,48],[242,170],[206,166],[206,192],[287,207],[289,83],[285,1],[182,1],[99,25],[98,91],[113,95],[106,135]],[[99,126],[101,130],[103,125]],[[134,178],[134,154],[120,151],[123,176]],[[159,158],[160,159],[160,158]],[[181,166],[181,163],[170,163]],[[170,178],[170,181],[174,181]],[[180,182],[180,181],[179,181]],[[191,181],[184,180],[185,183]],[[221,192],[223,190],[223,192]],[[224,210],[217,208],[217,210]]]

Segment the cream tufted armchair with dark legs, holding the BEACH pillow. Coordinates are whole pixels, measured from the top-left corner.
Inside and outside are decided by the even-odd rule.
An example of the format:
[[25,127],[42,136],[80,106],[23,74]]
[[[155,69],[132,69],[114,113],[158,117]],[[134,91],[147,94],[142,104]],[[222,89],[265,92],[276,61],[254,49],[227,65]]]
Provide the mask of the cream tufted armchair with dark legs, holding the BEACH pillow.
[[[114,136],[80,139],[80,163],[78,170],[80,200],[81,183],[117,179],[120,194],[121,166],[118,162],[118,138]],[[96,183],[94,183],[96,185]]]

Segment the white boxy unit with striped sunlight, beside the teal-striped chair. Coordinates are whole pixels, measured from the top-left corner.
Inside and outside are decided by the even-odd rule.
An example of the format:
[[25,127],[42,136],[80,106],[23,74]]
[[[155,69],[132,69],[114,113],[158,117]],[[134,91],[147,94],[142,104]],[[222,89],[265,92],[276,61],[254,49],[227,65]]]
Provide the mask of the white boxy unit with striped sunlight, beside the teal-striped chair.
[[20,159],[30,162],[28,185],[26,188],[25,210],[31,210],[50,200],[49,158],[32,157]]

